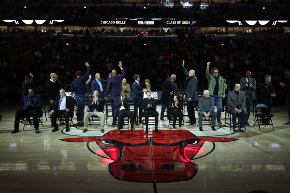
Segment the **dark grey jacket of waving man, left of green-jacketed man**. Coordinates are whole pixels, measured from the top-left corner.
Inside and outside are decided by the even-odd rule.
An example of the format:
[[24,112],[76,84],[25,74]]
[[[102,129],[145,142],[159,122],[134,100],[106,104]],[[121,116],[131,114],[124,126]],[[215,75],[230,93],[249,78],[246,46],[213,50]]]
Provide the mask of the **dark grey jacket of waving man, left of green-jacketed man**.
[[184,88],[184,94],[186,95],[186,98],[188,100],[188,98],[191,98],[192,101],[197,101],[198,97],[197,97],[197,77],[196,75],[189,77],[188,76],[188,71],[186,70],[186,68],[182,68],[184,74],[186,75],[186,80],[184,83],[184,86],[186,86]]

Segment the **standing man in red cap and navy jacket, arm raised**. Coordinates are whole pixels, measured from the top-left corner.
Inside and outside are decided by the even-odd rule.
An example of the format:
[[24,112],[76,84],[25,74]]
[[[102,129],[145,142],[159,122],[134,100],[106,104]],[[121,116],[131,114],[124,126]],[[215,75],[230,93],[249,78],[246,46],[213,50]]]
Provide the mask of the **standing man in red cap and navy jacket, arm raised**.
[[90,74],[89,64],[86,62],[85,65],[87,66],[86,73],[81,76],[81,71],[77,71],[75,73],[76,78],[72,81],[72,93],[75,94],[75,100],[77,104],[77,112],[76,112],[76,121],[78,126],[83,126],[83,112],[85,108],[86,102],[86,80]]

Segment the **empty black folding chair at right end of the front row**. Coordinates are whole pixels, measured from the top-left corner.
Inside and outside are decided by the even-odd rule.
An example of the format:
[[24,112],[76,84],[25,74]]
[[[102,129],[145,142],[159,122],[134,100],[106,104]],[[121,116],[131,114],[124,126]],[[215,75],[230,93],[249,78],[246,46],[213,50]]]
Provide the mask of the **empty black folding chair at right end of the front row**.
[[274,117],[274,116],[269,113],[269,109],[268,109],[266,104],[262,104],[262,103],[257,104],[255,107],[255,119],[254,119],[256,121],[255,121],[253,127],[257,123],[259,126],[259,129],[261,130],[260,125],[265,125],[265,127],[267,125],[272,125],[273,130],[274,130],[272,117]]

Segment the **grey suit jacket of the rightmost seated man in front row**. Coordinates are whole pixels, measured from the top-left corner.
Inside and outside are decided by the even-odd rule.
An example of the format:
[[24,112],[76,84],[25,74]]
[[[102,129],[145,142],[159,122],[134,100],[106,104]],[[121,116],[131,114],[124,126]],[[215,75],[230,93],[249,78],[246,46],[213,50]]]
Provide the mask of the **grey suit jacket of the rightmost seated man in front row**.
[[234,90],[229,91],[226,99],[227,110],[230,111],[238,105],[241,105],[241,110],[246,110],[246,93],[239,91],[238,98]]

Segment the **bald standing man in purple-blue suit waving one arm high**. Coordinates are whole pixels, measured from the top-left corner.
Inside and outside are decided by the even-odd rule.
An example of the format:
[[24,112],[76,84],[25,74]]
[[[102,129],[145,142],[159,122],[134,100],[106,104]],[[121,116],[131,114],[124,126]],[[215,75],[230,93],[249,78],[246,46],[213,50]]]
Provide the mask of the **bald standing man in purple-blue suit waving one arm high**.
[[[125,77],[125,71],[122,67],[122,62],[119,62],[119,67],[121,68],[121,74],[117,75],[117,72],[115,69],[112,70],[112,76],[108,78],[108,85],[107,85],[107,91],[106,91],[106,100],[108,101],[108,97],[110,95],[110,101],[111,101],[111,108],[112,108],[112,115],[114,115],[114,99],[116,96],[119,96],[120,91],[122,90],[122,79]],[[115,117],[113,116],[113,123],[112,125],[115,125]]]

